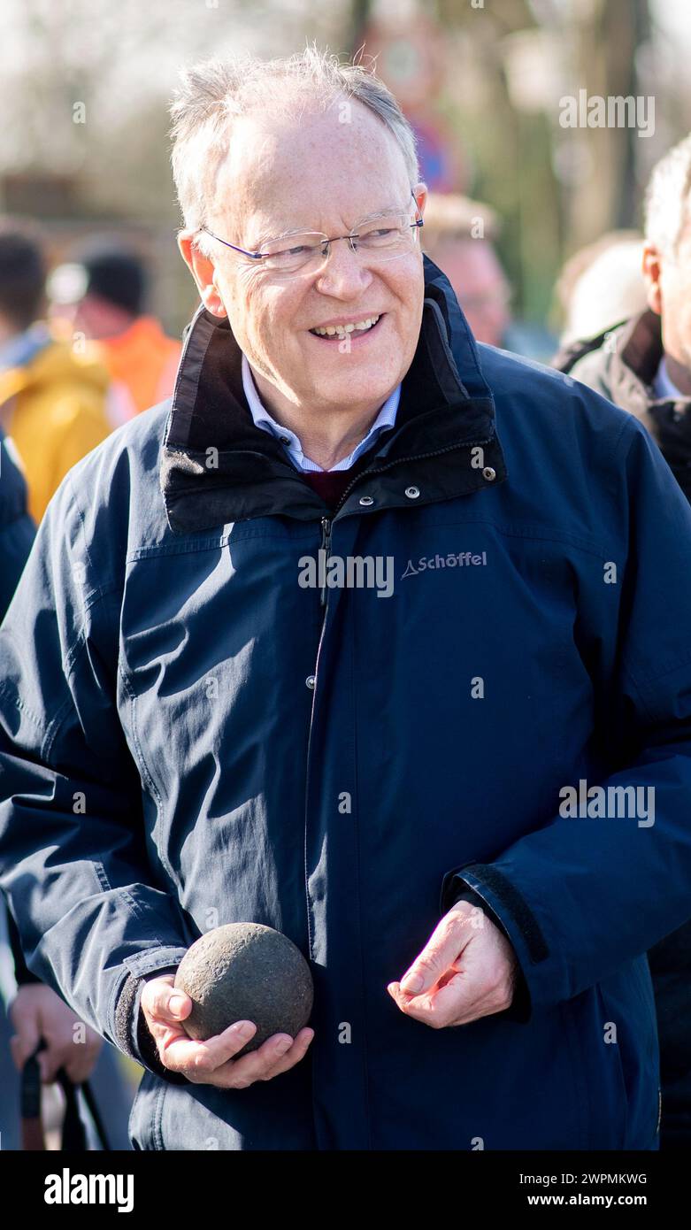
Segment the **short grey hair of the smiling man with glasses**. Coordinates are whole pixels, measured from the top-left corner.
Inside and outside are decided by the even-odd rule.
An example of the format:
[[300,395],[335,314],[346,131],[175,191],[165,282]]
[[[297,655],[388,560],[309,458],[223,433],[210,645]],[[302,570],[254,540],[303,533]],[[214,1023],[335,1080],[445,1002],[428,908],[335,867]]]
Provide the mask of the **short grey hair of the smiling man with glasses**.
[[[203,60],[181,74],[171,105],[172,170],[184,225],[208,225],[219,169],[227,155],[231,123],[251,111],[285,112],[288,101],[355,100],[386,124],[406,161],[411,187],[418,182],[416,135],[391,91],[361,64],[306,47],[294,55],[259,60],[248,54]],[[197,240],[202,251],[204,236]]]

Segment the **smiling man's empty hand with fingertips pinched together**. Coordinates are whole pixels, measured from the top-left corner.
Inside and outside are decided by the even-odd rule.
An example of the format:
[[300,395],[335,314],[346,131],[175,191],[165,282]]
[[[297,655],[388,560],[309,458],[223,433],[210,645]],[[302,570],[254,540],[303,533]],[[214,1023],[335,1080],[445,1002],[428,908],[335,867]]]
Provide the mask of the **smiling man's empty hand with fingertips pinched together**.
[[509,1007],[516,964],[502,931],[481,909],[459,902],[401,982],[386,990],[406,1016],[443,1030]]

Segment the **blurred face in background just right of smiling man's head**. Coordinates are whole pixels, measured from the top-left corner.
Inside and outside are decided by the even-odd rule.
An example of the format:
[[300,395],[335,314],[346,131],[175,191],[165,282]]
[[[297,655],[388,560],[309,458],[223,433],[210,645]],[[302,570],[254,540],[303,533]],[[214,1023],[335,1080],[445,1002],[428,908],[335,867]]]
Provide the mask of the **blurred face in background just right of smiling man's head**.
[[473,337],[502,346],[510,323],[510,289],[492,244],[486,239],[441,239],[429,246],[429,255],[449,278]]

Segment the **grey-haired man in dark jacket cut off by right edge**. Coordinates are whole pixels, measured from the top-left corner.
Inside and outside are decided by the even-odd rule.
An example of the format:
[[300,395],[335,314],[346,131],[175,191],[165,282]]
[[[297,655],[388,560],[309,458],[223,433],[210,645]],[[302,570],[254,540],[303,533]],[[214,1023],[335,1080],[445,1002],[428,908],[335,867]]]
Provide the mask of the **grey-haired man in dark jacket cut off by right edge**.
[[[555,359],[636,416],[691,502],[691,135],[655,166],[642,248],[647,308]],[[691,924],[649,952],[663,1082],[661,1148],[691,1145]]]

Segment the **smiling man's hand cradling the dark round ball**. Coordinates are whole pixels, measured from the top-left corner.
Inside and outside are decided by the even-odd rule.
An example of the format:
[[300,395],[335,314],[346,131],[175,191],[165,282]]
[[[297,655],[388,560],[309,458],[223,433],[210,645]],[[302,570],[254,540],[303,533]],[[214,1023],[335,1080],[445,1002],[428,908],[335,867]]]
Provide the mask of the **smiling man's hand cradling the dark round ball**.
[[274,1033],[241,1059],[232,1057],[257,1032],[251,1021],[236,1021],[216,1037],[194,1042],[182,1023],[192,1011],[192,1000],[184,991],[173,990],[173,982],[172,974],[150,979],[140,1000],[161,1063],[171,1071],[182,1073],[195,1085],[247,1089],[257,1080],[286,1073],[305,1057],[315,1036],[309,1028],[300,1030],[295,1039],[289,1033]]

